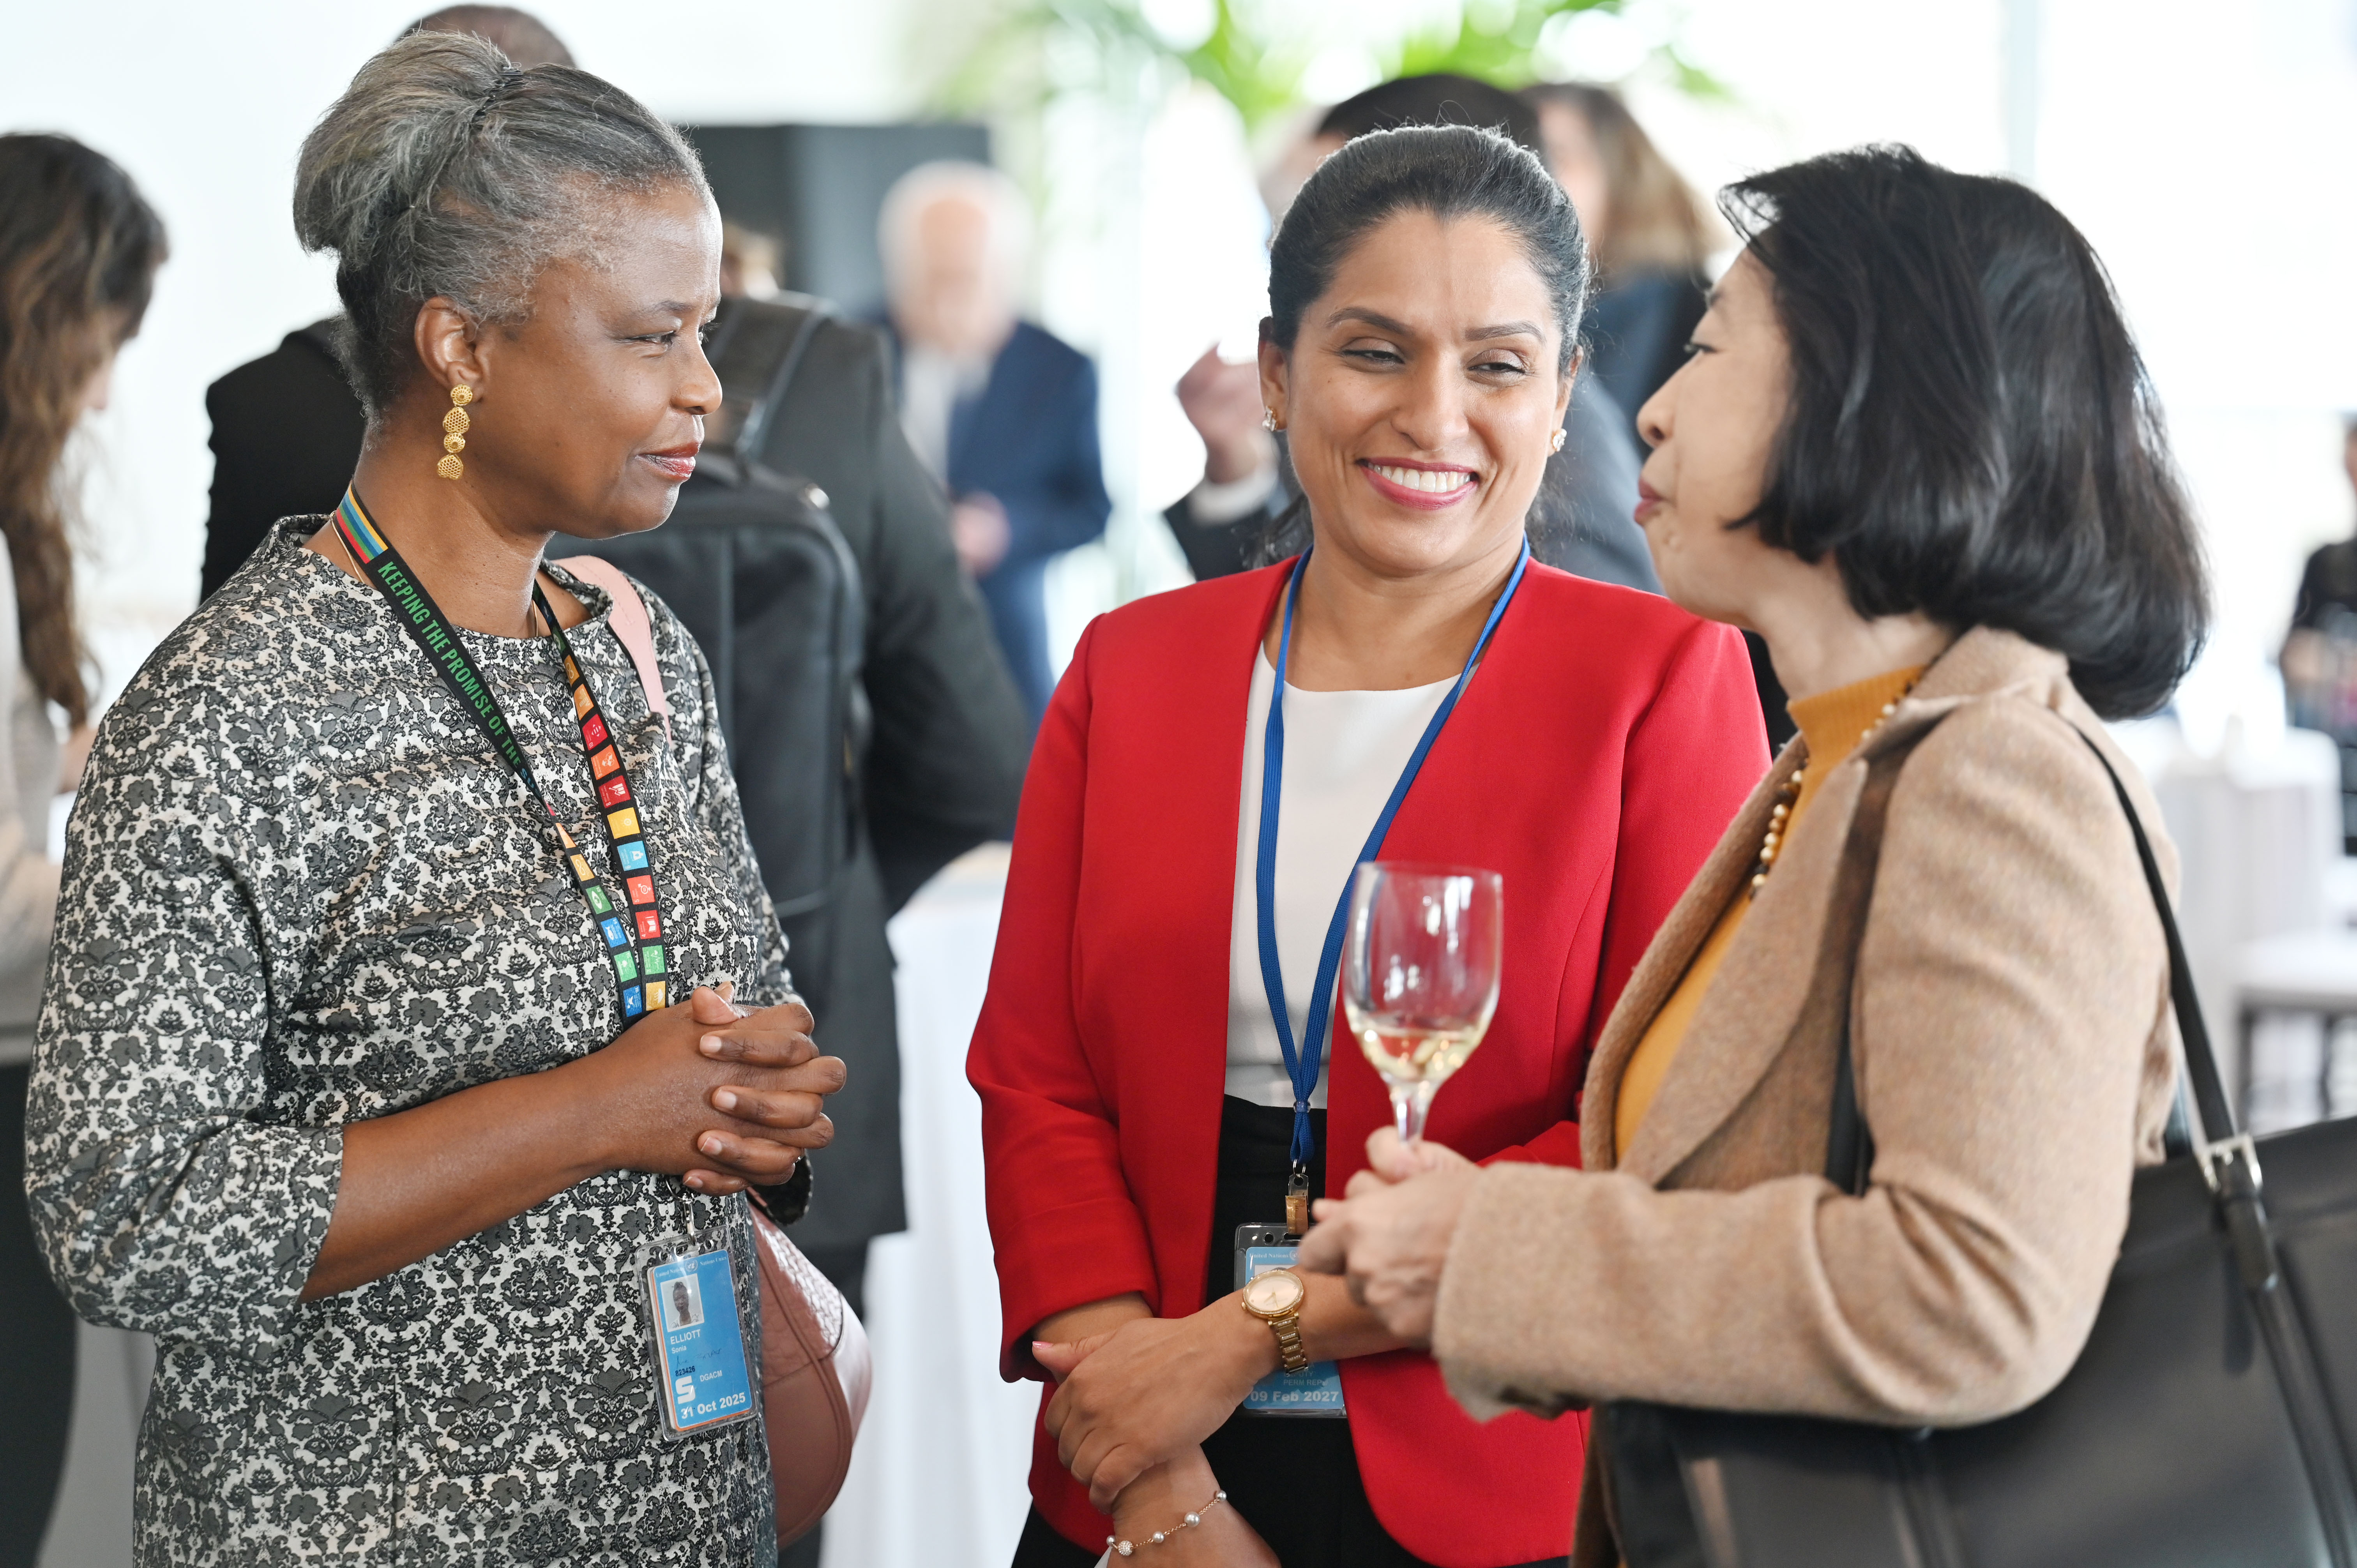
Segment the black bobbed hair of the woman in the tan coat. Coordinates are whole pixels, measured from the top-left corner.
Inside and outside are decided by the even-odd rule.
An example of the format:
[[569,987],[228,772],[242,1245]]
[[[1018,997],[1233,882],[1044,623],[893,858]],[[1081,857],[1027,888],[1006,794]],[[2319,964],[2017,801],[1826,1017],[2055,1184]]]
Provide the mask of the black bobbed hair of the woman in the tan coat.
[[2034,191],[1867,146],[1721,210],[1775,285],[1791,403],[1761,540],[1834,556],[1860,615],[2003,627],[2107,719],[2152,712],[2209,578],[2102,262]]

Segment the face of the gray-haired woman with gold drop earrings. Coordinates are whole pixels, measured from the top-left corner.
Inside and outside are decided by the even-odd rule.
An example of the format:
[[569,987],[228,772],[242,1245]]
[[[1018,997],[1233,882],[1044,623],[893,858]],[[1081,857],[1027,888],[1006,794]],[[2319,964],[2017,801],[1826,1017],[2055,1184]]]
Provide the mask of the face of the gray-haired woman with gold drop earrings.
[[[613,538],[658,526],[695,472],[721,401],[702,328],[719,304],[721,219],[691,186],[618,196],[599,262],[561,259],[533,285],[521,325],[474,330],[420,311],[436,375],[403,398],[434,422],[450,382],[476,391],[460,483],[526,528]],[[436,363],[441,358],[441,363]]]

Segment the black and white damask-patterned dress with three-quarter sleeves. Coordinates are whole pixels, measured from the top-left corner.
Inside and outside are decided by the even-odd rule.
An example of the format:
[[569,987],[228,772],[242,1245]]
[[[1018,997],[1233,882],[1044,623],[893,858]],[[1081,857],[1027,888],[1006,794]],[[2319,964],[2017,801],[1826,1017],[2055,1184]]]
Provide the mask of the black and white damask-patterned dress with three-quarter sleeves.
[[[643,1245],[721,1231],[757,1335],[742,1198],[606,1174],[299,1299],[346,1122],[622,1023],[540,809],[377,592],[302,549],[318,523],[280,523],[148,658],[68,832],[26,1186],[75,1309],[158,1339],[139,1563],[768,1568],[761,1424],[662,1436],[634,1287]],[[780,1000],[702,655],[651,599],[665,743],[606,594],[556,575],[594,615],[570,637],[651,821],[674,976]],[[549,644],[464,637],[618,884]]]

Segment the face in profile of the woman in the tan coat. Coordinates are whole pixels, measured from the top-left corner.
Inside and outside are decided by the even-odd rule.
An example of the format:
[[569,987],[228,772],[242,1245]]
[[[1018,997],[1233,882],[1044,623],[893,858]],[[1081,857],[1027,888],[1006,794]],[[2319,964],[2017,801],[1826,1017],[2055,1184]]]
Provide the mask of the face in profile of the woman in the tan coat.
[[1638,431],[1652,446],[1638,486],[1662,592],[1697,615],[1758,630],[1765,594],[1817,568],[1772,545],[1751,516],[1791,398],[1791,361],[1775,314],[1768,269],[1747,250],[1711,290],[1695,328],[1695,354],[1645,408]]

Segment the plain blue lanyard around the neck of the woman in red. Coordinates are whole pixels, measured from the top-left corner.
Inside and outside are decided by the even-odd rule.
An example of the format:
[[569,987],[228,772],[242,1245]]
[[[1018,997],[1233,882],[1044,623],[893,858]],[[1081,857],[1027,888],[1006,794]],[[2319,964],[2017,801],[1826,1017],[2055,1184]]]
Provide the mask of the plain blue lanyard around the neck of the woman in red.
[[[1351,917],[1351,879],[1343,877],[1341,898],[1334,901],[1334,920],[1327,922],[1325,948],[1318,953],[1318,990],[1310,993],[1308,1035],[1303,1040],[1303,1045],[1315,1045],[1318,1052],[1294,1049],[1294,1019],[1285,1007],[1285,967],[1277,960],[1277,802],[1285,795],[1285,672],[1294,651],[1294,604],[1301,599],[1301,573],[1308,571],[1308,564],[1310,552],[1303,549],[1301,559],[1294,561],[1292,580],[1285,585],[1285,630],[1277,634],[1277,684],[1268,693],[1268,733],[1261,750],[1261,846],[1252,875],[1261,913],[1261,986],[1268,988],[1268,1016],[1277,1021],[1285,1073],[1294,1080],[1296,1174],[1308,1167],[1315,1153],[1310,1139],[1310,1094],[1318,1092],[1318,1075],[1325,1070],[1325,1047],[1332,1035],[1327,1019],[1334,1016],[1334,971],[1341,967],[1341,929]],[[1391,785],[1391,799],[1384,802],[1381,813],[1374,818],[1374,830],[1367,832],[1367,844],[1358,851],[1360,861],[1372,861],[1381,854],[1384,837],[1391,832],[1391,818],[1400,813],[1400,802],[1407,799],[1407,785],[1417,783],[1424,757],[1433,750],[1433,740],[1440,738],[1440,726],[1457,712],[1457,698],[1464,696],[1466,681],[1473,679],[1473,665],[1480,663],[1499,618],[1513,604],[1516,589],[1523,587],[1525,571],[1530,571],[1530,540],[1523,540],[1523,552],[1513,559],[1513,573],[1506,578],[1506,592],[1490,606],[1490,620],[1483,625],[1473,653],[1466,655],[1466,667],[1457,674],[1457,684],[1450,686],[1450,696],[1440,698],[1433,722],[1424,726],[1424,738],[1417,740],[1407,766],[1400,769],[1400,783]]]

